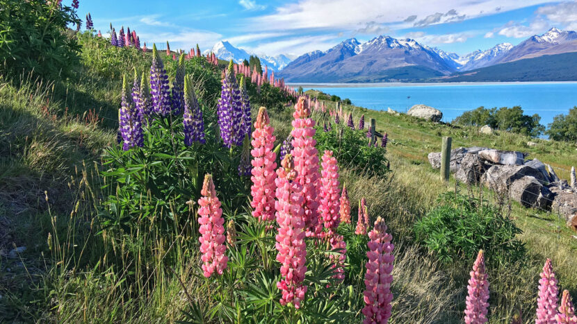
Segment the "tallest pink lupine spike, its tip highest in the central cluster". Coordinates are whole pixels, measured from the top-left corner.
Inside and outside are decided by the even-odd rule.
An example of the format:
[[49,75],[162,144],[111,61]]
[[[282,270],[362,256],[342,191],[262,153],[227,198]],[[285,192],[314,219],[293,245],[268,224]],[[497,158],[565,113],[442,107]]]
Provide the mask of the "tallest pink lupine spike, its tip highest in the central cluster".
[[295,171],[298,181],[302,185],[304,194],[304,223],[307,230],[307,237],[320,235],[323,230],[318,219],[317,187],[320,175],[318,173],[318,156],[315,148],[316,140],[315,121],[310,118],[311,110],[306,104],[306,98],[300,96],[295,105],[293,113],[293,151],[295,159]]

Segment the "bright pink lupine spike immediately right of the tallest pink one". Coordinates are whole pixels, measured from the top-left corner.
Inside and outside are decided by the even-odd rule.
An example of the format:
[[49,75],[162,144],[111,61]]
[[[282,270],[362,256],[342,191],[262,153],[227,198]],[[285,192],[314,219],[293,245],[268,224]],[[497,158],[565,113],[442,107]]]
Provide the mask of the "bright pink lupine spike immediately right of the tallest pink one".
[[332,151],[325,151],[323,162],[320,165],[323,167],[323,171],[320,173],[320,206],[318,211],[323,216],[325,228],[329,230],[329,235],[332,236],[341,223],[339,215],[341,208],[339,167],[336,165],[336,158],[332,155]]

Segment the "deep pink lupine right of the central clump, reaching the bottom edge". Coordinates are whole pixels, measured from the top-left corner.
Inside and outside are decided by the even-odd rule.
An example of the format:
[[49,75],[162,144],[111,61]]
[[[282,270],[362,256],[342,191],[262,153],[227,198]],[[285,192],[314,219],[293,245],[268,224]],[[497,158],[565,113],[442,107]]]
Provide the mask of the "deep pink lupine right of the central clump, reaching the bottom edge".
[[387,225],[379,216],[373,230],[368,233],[368,251],[365,273],[365,316],[364,324],[389,323],[391,317],[391,282],[393,282],[393,244],[391,235],[387,233]]

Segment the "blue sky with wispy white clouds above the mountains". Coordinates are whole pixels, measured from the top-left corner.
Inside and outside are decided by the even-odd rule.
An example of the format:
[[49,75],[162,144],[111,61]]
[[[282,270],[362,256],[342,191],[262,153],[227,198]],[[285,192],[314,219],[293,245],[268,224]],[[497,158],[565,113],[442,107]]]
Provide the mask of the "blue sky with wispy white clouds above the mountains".
[[[66,2],[70,0],[65,0]],[[434,3],[434,4],[433,4]],[[577,1],[542,0],[80,0],[95,29],[136,30],[163,48],[209,49],[220,40],[247,51],[291,57],[350,37],[410,37],[464,55],[501,42],[518,44],[556,26],[577,30]]]

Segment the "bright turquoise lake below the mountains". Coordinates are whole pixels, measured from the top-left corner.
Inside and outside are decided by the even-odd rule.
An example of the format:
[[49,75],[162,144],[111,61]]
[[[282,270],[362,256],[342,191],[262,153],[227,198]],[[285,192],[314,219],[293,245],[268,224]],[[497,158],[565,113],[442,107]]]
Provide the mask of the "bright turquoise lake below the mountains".
[[[350,99],[353,104],[374,110],[391,108],[406,112],[422,103],[443,112],[452,121],[466,110],[520,105],[526,114],[539,114],[547,126],[558,114],[577,105],[577,83],[375,83],[300,84]],[[299,84],[291,84],[298,87]]]

